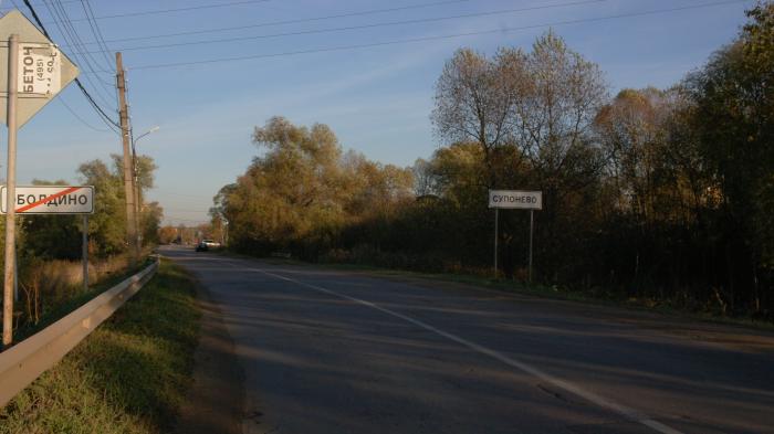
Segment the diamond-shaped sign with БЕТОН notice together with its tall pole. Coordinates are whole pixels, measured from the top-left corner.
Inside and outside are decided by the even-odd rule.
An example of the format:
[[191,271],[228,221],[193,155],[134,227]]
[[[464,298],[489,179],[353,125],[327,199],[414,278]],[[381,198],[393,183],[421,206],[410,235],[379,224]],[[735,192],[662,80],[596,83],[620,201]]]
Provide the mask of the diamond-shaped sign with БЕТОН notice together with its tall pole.
[[[6,200],[15,197],[17,130],[46,105],[79,74],[77,67],[63,55],[21,12],[12,10],[0,18],[0,121],[8,125],[8,162]],[[3,276],[2,345],[13,341],[13,280],[15,279],[15,208],[6,214]]]

